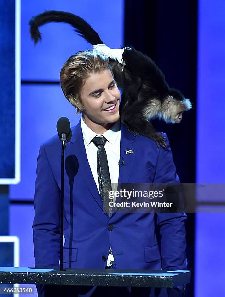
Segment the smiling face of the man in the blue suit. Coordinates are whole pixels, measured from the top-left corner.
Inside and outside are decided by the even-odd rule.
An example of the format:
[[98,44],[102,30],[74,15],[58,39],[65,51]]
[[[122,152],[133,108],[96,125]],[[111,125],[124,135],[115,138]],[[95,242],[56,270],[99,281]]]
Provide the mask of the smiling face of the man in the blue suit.
[[[86,79],[80,96],[84,106],[83,119],[93,131],[101,127],[108,130],[119,119],[120,92],[109,69],[92,73]],[[106,110],[108,108],[112,109]]]

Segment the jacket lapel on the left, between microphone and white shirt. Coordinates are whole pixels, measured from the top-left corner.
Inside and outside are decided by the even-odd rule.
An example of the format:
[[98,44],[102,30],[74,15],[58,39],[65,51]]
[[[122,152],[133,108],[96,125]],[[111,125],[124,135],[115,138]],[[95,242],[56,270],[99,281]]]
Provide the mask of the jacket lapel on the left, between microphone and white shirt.
[[[87,185],[91,195],[98,203],[99,207],[103,211],[103,201],[99,194],[98,188],[96,186],[95,180],[93,178],[91,168],[87,159],[87,154],[84,145],[83,134],[81,130],[81,121],[78,125],[72,129],[72,138],[68,143],[68,148],[72,155],[75,155],[79,160],[79,171],[84,182]],[[105,214],[107,215],[107,214]]]

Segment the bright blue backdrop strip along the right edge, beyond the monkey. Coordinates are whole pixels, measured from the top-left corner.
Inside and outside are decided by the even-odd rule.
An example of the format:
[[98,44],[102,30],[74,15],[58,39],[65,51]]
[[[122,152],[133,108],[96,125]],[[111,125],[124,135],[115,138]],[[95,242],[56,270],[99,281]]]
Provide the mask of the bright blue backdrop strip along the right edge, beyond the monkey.
[[[198,183],[225,181],[225,1],[199,0],[197,170]],[[215,191],[218,193],[218,191]],[[221,197],[211,201],[225,202]],[[225,207],[196,214],[195,297],[225,296]],[[221,213],[216,213],[216,211]]]

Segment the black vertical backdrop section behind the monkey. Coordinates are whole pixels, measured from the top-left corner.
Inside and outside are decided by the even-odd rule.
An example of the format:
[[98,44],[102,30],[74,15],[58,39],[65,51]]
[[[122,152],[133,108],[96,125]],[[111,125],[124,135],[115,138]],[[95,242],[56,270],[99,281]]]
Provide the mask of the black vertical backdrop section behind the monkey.
[[[153,121],[166,132],[182,183],[195,182],[196,77],[198,1],[125,0],[124,44],[151,57],[171,87],[180,89],[193,104],[179,125]],[[195,214],[186,222],[187,257],[192,282],[186,296],[194,296]]]

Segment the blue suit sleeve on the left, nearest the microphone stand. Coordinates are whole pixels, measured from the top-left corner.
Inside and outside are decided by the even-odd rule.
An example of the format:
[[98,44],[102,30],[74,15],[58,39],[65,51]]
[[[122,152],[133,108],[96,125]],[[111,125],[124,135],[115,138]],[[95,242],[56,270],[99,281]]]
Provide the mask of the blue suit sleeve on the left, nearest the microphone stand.
[[35,182],[33,241],[36,268],[58,268],[60,250],[60,190],[41,145]]

